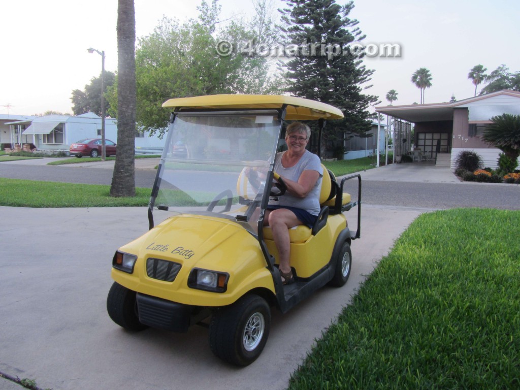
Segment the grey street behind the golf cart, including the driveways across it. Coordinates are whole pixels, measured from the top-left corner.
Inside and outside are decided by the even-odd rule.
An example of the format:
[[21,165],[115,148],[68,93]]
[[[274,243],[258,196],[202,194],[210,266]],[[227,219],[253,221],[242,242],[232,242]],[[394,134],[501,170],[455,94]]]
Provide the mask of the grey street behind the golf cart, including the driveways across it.
[[[96,163],[46,165],[56,159],[0,163],[0,177],[65,183],[112,183],[113,160]],[[159,159],[136,159],[136,187],[151,188],[154,167]],[[451,209],[453,207],[493,207],[520,209],[517,185],[464,183],[448,168],[434,165],[391,164],[361,172],[363,203],[386,206]],[[349,189],[350,191],[350,189]],[[354,189],[352,191],[355,191]]]

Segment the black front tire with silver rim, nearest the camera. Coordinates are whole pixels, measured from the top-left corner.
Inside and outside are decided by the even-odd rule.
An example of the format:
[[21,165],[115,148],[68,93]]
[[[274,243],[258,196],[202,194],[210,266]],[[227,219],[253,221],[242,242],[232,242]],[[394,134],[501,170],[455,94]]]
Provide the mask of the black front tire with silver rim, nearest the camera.
[[258,295],[245,295],[219,308],[210,324],[210,347],[218,358],[248,366],[262,353],[269,336],[271,309]]

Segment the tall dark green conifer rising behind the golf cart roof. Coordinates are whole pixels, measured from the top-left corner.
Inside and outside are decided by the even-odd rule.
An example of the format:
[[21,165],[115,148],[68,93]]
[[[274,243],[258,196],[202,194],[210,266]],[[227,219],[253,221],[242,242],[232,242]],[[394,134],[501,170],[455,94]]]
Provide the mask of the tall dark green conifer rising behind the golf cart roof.
[[331,131],[326,133],[336,137],[345,133],[370,136],[369,118],[373,115],[368,108],[378,102],[378,97],[363,94],[371,85],[362,85],[371,80],[374,72],[362,64],[364,53],[349,50],[349,45],[365,38],[357,27],[359,22],[348,17],[354,3],[341,6],[334,0],[284,2],[287,8],[280,10],[284,38],[300,46],[297,55],[282,64],[287,92],[341,109],[345,119],[328,123]]

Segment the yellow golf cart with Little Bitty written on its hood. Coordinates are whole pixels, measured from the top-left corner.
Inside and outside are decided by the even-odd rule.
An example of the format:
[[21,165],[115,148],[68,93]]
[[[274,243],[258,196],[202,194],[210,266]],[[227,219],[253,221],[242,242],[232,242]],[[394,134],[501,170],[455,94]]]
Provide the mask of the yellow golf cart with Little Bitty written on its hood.
[[[267,342],[271,307],[285,313],[350,275],[350,243],[360,237],[359,175],[337,183],[324,169],[316,224],[290,229],[294,283],[282,284],[272,231],[264,227],[269,199],[285,190],[273,171],[284,122],[318,121],[319,145],[325,121],[343,114],[289,96],[213,95],[163,106],[172,113],[148,208],[150,230],[115,252],[108,314],[134,331],[209,324],[213,353],[246,366]],[[343,188],[352,178],[355,200]],[[344,212],[355,206],[351,231]],[[157,226],[156,212],[168,213]]]

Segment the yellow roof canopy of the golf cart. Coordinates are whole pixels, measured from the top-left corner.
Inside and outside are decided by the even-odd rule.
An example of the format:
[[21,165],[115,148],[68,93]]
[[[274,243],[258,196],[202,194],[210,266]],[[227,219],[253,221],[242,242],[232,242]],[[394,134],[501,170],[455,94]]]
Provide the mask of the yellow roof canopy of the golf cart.
[[280,95],[206,95],[166,100],[163,107],[178,109],[280,109],[287,105],[286,120],[342,119],[343,113],[326,103]]

